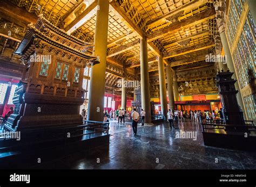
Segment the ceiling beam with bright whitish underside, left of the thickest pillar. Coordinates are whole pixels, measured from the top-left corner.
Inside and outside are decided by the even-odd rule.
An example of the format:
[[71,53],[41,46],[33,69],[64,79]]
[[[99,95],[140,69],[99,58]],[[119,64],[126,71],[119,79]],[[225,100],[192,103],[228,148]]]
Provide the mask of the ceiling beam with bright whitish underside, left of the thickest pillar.
[[68,33],[74,32],[77,28],[82,26],[87,20],[89,20],[96,13],[96,6],[98,0],[95,0],[90,4],[78,17],[75,18],[68,26],[66,26],[65,31]]

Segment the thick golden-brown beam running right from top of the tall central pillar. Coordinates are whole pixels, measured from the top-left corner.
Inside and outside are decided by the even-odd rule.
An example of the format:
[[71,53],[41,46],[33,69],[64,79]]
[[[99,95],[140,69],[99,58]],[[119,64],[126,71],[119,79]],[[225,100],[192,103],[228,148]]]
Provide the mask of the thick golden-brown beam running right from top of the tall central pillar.
[[162,28],[161,30],[158,30],[152,34],[147,35],[147,41],[150,42],[150,41],[159,39],[159,38],[163,37],[164,35],[178,32],[182,28],[197,25],[203,21],[206,21],[206,20],[214,18],[214,17],[215,17],[214,8],[207,9],[204,12],[200,12],[197,15],[194,15],[187,19],[183,19],[181,21],[176,21],[175,23],[171,24],[170,26],[167,26],[165,28]]

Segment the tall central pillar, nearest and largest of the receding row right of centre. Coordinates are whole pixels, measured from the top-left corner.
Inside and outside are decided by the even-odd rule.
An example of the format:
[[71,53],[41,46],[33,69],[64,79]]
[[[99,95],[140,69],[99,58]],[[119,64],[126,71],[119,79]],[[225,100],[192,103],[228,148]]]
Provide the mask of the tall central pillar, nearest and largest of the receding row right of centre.
[[145,124],[151,124],[149,66],[147,63],[147,41],[140,39],[140,81],[142,91],[142,109],[146,112]]

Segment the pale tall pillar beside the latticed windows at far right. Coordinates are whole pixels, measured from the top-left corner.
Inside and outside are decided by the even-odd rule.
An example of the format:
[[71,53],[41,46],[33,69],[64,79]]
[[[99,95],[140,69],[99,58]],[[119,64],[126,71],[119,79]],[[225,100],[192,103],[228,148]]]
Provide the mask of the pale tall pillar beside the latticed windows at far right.
[[[238,80],[237,79],[237,74],[235,73],[234,63],[233,63],[233,60],[232,60],[230,48],[228,47],[228,44],[227,44],[227,37],[226,37],[225,32],[220,33],[220,39],[221,39],[221,43],[222,43],[223,48],[224,48],[224,53],[226,55],[227,67],[228,67],[228,69],[230,69],[231,72],[234,73],[232,78],[234,78],[234,80]],[[242,101],[241,90],[239,88],[238,81],[235,82],[235,89],[239,91],[238,94],[237,94],[237,101],[238,101],[239,106],[241,106],[241,109],[244,112],[244,117],[245,117],[246,116],[245,107],[244,107],[244,103]]]

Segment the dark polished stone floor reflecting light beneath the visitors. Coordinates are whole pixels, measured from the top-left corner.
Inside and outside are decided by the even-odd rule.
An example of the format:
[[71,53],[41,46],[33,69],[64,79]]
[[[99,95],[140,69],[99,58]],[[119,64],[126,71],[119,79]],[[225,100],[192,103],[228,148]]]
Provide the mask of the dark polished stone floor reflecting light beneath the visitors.
[[177,138],[180,130],[168,123],[138,125],[133,136],[130,123],[110,124],[109,147],[97,147],[65,156],[34,169],[256,169],[256,153],[204,146],[201,128],[190,121],[180,130],[197,132],[196,140]]

